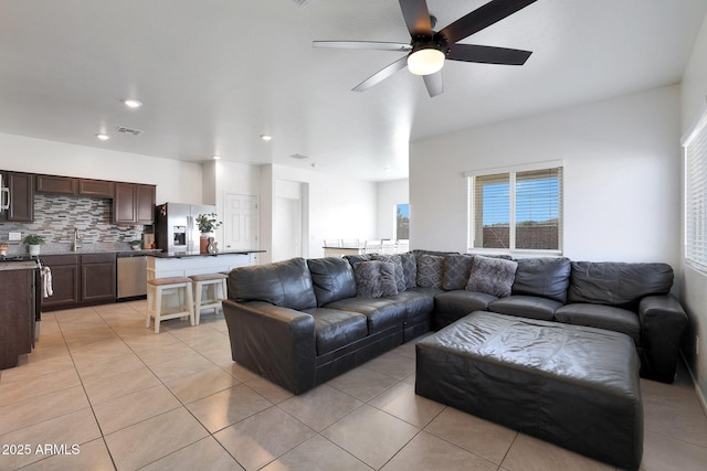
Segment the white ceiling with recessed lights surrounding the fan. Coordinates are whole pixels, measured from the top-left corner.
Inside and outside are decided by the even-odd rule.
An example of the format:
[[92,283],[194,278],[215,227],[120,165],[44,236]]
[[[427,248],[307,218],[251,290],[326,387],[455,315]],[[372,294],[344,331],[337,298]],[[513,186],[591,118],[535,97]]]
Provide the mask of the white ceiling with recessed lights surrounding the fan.
[[[439,30],[486,1],[428,4]],[[402,179],[409,141],[679,83],[706,12],[705,0],[538,0],[463,41],[534,51],[526,65],[447,61],[430,98],[407,69],[351,92],[401,53],[312,47],[408,42],[395,0],[0,0],[0,132]]]

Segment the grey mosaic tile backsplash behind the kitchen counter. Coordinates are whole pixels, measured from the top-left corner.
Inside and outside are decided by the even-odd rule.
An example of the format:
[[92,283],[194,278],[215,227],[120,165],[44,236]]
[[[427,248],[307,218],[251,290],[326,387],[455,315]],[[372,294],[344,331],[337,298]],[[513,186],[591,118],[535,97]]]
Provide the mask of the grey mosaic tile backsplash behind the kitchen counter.
[[[70,249],[74,228],[78,229],[84,250],[126,249],[128,242],[139,239],[144,226],[116,226],[113,224],[113,200],[102,197],[34,195],[33,223],[0,223],[0,240],[8,240],[9,233],[20,232],[44,236],[43,253]],[[24,251],[24,247],[11,243],[10,253]]]

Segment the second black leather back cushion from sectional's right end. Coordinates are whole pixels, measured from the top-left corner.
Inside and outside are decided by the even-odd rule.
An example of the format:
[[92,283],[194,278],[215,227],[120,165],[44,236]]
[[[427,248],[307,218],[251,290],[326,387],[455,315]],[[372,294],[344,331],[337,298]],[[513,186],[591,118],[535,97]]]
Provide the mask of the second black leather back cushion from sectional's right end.
[[519,258],[513,295],[540,296],[567,302],[572,264],[569,258]]

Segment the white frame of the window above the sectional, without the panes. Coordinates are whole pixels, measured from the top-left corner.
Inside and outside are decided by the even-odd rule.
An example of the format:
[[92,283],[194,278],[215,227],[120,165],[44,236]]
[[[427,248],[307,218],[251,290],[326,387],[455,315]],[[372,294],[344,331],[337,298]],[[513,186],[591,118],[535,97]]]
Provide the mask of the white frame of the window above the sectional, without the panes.
[[[550,160],[544,162],[534,162],[521,165],[509,165],[509,167],[499,167],[493,169],[481,169],[464,172],[464,176],[466,178],[466,186],[467,186],[467,251],[468,253],[492,253],[492,254],[508,254],[508,255],[528,255],[528,256],[562,256],[563,253],[563,232],[564,232],[564,217],[563,217],[563,207],[564,207],[564,161],[562,160]],[[521,172],[532,172],[532,171],[541,171],[541,170],[550,170],[550,169],[560,169],[560,179],[559,179],[559,207],[558,207],[558,248],[557,249],[532,249],[532,248],[516,248],[515,239],[516,239],[516,175]],[[476,201],[476,178],[479,176],[488,176],[496,174],[508,174],[509,175],[509,189],[510,189],[510,202],[509,202],[509,231],[510,231],[510,247],[508,248],[485,248],[485,247],[474,247],[474,239],[476,236],[476,204],[481,204],[481,202]]]

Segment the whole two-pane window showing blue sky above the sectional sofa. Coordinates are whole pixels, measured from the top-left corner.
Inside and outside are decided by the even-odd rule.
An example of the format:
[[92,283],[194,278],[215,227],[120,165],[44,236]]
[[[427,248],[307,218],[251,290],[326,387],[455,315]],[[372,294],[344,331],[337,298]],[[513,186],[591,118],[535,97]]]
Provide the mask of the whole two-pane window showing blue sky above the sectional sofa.
[[467,173],[469,247],[562,249],[562,167]]

